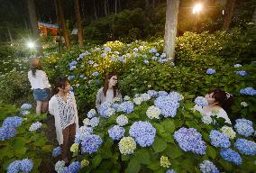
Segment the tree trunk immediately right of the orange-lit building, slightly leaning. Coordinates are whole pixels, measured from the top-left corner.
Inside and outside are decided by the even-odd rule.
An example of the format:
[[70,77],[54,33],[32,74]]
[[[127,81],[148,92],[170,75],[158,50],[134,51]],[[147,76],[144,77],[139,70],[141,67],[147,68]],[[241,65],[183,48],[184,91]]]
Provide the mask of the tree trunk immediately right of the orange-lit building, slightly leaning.
[[68,50],[70,50],[70,42],[69,42],[69,32],[66,29],[66,23],[62,8],[62,1],[57,0],[57,7],[58,7],[58,14],[59,14],[59,22],[60,22],[60,28],[61,32],[63,33],[65,44]]

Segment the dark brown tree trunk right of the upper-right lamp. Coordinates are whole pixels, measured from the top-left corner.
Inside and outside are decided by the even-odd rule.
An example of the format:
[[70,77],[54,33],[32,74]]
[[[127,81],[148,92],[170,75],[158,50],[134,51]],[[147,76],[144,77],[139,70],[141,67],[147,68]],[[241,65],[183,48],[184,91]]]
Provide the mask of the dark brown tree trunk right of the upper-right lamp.
[[223,29],[228,30],[232,16],[233,16],[233,7],[235,5],[235,0],[227,0],[225,5],[225,11],[224,11],[224,25]]

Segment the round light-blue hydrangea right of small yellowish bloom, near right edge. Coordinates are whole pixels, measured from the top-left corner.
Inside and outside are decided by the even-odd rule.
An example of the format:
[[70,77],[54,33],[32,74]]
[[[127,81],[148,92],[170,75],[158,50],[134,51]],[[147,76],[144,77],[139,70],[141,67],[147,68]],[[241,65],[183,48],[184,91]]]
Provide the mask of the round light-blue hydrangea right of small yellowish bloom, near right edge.
[[236,132],[246,137],[251,136],[254,132],[252,122],[243,118],[235,120],[234,129]]

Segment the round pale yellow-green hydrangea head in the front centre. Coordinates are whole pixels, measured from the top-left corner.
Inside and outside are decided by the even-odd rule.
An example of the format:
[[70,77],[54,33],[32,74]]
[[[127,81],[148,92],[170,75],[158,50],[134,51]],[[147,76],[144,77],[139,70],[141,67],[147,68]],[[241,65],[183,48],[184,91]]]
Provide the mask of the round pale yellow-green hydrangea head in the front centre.
[[136,149],[136,142],[132,137],[123,137],[118,143],[121,154],[133,154]]

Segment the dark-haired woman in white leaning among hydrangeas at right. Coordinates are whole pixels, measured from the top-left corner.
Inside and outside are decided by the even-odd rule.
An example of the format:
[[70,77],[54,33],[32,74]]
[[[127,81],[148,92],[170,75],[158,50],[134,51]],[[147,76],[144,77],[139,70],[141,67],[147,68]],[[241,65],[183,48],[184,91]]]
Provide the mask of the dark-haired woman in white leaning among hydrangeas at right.
[[203,116],[214,116],[217,118],[224,118],[225,123],[230,123],[231,121],[226,114],[226,111],[230,109],[233,104],[233,96],[224,90],[215,88],[208,91],[206,94],[206,100],[208,105],[202,107],[195,105],[195,109],[199,111]]

